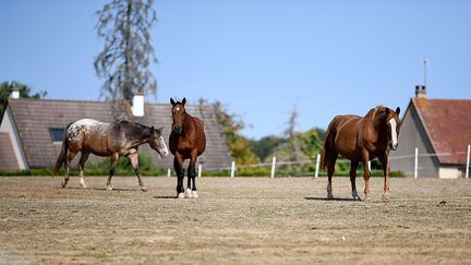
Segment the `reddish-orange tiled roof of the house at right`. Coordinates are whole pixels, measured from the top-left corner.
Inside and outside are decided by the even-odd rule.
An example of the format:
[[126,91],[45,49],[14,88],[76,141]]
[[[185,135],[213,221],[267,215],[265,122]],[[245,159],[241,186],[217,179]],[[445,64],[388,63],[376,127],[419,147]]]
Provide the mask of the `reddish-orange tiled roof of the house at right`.
[[440,164],[466,164],[471,144],[471,100],[413,98]]

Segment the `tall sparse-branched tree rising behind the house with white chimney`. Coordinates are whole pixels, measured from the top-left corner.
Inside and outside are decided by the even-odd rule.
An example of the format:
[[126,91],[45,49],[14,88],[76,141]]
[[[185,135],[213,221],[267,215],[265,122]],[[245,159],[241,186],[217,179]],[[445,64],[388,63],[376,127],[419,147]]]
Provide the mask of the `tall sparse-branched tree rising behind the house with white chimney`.
[[131,103],[136,92],[157,94],[149,70],[157,62],[150,44],[150,27],[157,20],[154,0],[112,0],[98,11],[98,36],[105,48],[95,60],[97,75],[105,80],[100,96]]

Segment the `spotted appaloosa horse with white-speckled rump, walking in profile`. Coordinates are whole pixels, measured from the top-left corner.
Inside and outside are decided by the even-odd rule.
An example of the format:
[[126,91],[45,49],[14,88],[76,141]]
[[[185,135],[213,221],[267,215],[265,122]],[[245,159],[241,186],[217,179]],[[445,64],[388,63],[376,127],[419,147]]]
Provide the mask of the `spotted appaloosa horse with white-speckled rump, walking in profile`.
[[64,165],[65,177],[62,188],[65,188],[69,182],[70,162],[81,152],[82,156],[78,161],[80,185],[86,188],[83,170],[88,155],[108,156],[110,157],[110,170],[107,190],[112,190],[111,178],[114,174],[118,159],[121,156],[126,156],[137,176],[141,190],[146,191],[140,176],[137,148],[140,145],[148,143],[150,148],[157,150],[161,157],[167,156],[168,149],[161,136],[161,128],[155,130],[154,127],[148,128],[130,121],[105,123],[93,119],[82,119],[72,122],[67,127],[62,148],[56,161],[55,174]]

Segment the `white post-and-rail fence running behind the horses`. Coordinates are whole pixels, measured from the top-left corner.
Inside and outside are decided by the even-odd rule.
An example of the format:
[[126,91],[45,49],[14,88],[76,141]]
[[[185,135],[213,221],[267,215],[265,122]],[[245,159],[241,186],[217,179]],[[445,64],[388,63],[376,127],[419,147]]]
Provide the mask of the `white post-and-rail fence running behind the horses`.
[[[413,177],[415,179],[419,178],[419,169],[424,169],[424,167],[420,167],[419,164],[419,158],[420,157],[442,157],[442,156],[451,156],[455,154],[467,154],[467,161],[466,161],[466,172],[464,172],[464,178],[469,179],[469,174],[470,174],[470,154],[471,153],[471,145],[468,145],[467,150],[463,152],[454,152],[454,153],[419,153],[419,149],[415,148],[414,154],[410,154],[410,155],[402,155],[402,156],[390,156],[388,159],[389,161],[391,160],[396,160],[396,159],[413,159]],[[347,159],[338,159],[338,161],[347,161]],[[321,166],[321,154],[317,154],[317,157],[315,160],[302,160],[302,161],[278,161],[276,157],[271,158],[271,162],[261,162],[261,164],[253,164],[253,165],[244,165],[243,168],[256,168],[256,167],[270,167],[270,178],[275,178],[276,176],[276,170],[277,167],[279,166],[286,166],[286,165],[305,165],[305,164],[314,164],[315,162],[315,171],[314,173],[314,178],[318,178],[319,176],[319,166]],[[369,168],[371,170],[371,161],[369,161]],[[215,171],[215,170],[228,170],[230,172],[230,178],[234,178],[235,177],[235,172],[238,171],[238,167],[235,165],[235,161],[231,162],[230,167],[225,167],[225,168],[203,168],[203,165],[198,165],[197,168],[197,176],[198,178],[202,177],[202,172],[203,170],[207,170],[207,171]],[[171,170],[168,169],[167,172],[167,177],[171,176]]]

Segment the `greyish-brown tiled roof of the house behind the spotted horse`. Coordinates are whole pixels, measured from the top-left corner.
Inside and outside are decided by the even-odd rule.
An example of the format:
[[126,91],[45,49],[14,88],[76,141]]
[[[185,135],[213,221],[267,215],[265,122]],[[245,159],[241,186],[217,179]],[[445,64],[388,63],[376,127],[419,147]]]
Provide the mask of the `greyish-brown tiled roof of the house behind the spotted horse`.
[[[164,138],[168,144],[171,127],[170,105],[145,104],[145,117],[134,118],[131,115],[130,105],[120,103],[112,105],[105,101],[83,100],[34,100],[34,99],[10,99],[9,106],[12,110],[20,137],[23,143],[26,159],[29,167],[52,167],[61,148],[61,144],[52,144],[50,128],[65,128],[70,122],[92,118],[104,122],[113,121],[113,109],[118,109],[121,118],[133,120],[145,125],[155,128],[164,127]],[[205,122],[207,138],[206,152],[198,161],[204,161],[206,168],[228,167],[231,157],[226,144],[226,137],[216,120],[215,108],[212,105],[188,105],[186,111]],[[141,149],[154,157],[154,161],[164,168],[172,168],[173,156],[160,158],[148,145]],[[76,164],[74,159],[73,165]],[[75,165],[74,165],[75,166]]]

